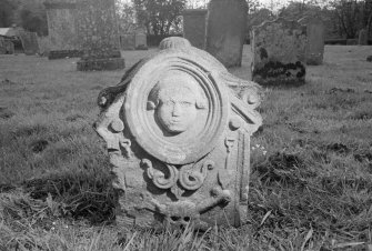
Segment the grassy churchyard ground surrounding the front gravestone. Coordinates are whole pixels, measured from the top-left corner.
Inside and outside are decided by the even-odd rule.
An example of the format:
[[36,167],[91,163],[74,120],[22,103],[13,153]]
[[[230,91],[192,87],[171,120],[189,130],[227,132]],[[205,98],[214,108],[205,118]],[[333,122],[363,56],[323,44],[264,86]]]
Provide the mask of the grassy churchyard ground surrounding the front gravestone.
[[[125,51],[128,68],[150,51]],[[306,84],[268,89],[252,139],[250,221],[118,232],[99,91],[122,71],[0,56],[0,250],[372,250],[370,47],[326,47]],[[249,48],[243,67],[250,78]],[[249,248],[248,248],[249,247]]]

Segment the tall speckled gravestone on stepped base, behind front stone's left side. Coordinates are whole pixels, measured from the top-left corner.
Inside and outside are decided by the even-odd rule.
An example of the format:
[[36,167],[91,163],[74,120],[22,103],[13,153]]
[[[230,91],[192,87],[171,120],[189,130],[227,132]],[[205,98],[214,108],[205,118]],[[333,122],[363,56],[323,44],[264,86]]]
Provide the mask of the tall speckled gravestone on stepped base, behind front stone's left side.
[[115,16],[115,0],[79,0],[79,39],[83,56],[79,71],[124,68]]

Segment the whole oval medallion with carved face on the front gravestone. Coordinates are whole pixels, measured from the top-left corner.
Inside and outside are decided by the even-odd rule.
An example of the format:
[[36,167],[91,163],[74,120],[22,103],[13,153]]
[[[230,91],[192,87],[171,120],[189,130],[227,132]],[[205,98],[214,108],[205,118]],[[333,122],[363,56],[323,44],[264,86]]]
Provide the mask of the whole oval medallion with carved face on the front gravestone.
[[230,102],[209,60],[167,50],[145,62],[127,89],[124,118],[144,151],[170,164],[195,162],[227,127]]

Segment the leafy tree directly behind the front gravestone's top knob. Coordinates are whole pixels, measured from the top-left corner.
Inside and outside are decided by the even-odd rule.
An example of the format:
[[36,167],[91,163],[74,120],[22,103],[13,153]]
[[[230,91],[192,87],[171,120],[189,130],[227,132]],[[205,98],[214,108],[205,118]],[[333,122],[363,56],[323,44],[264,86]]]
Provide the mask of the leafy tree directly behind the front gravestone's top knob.
[[137,20],[148,33],[168,36],[172,27],[180,26],[185,3],[187,0],[134,0]]

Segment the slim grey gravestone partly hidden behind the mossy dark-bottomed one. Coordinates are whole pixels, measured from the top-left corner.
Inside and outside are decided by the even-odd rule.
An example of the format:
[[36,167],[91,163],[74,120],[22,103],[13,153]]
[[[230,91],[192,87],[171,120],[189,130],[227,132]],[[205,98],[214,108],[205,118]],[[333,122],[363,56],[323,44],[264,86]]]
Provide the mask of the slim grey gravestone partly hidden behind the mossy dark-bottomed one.
[[324,23],[321,17],[304,17],[299,22],[306,27],[306,63],[320,66],[324,54]]

